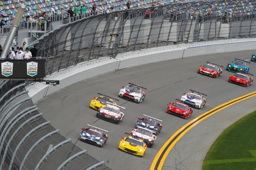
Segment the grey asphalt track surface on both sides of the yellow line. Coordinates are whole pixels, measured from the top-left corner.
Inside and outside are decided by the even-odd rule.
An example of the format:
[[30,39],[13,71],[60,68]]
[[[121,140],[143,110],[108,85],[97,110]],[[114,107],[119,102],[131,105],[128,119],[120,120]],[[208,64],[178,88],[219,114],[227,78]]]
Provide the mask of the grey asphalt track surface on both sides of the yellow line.
[[[60,130],[61,135],[67,139],[71,138],[73,143],[83,150],[86,149],[88,154],[97,160],[104,160],[106,166],[111,169],[148,170],[158,150],[180,127],[218,105],[256,91],[256,82],[248,87],[229,83],[231,72],[225,70],[229,61],[234,58],[248,60],[254,52],[249,50],[218,53],[116,70],[72,84],[35,104],[40,112],[43,112],[43,117]],[[207,61],[223,65],[221,77],[211,78],[197,73],[200,64],[205,64]],[[249,73],[256,75],[256,63],[251,62],[249,66]],[[117,97],[119,90],[122,86],[128,85],[128,82],[147,88],[142,103],[137,104]],[[167,104],[174,102],[175,98],[180,99],[189,89],[208,94],[205,97],[207,99],[205,107],[200,110],[194,109],[192,116],[187,120],[167,114]],[[122,123],[116,125],[96,118],[97,111],[90,109],[89,104],[93,97],[98,97],[97,93],[120,100],[117,104],[126,108],[122,110],[125,114]],[[203,158],[218,135],[233,122],[256,110],[255,102],[253,103],[255,97],[247,100],[250,104],[247,104],[246,100],[235,104],[213,115],[215,119],[210,117],[191,129],[181,139],[181,143],[177,142],[167,157],[163,169],[201,169]],[[242,104],[246,104],[248,108],[243,109]],[[241,110],[242,115],[239,114]],[[233,112],[238,116],[234,116]],[[119,151],[117,148],[122,137],[127,136],[125,132],[130,133],[143,114],[163,120],[163,127],[161,133],[157,135],[153,148],[147,148],[143,158],[140,158]],[[103,148],[78,140],[81,128],[87,124],[109,131],[108,141]],[[214,129],[215,126],[218,129]],[[202,143],[205,145],[204,149],[200,149]]]

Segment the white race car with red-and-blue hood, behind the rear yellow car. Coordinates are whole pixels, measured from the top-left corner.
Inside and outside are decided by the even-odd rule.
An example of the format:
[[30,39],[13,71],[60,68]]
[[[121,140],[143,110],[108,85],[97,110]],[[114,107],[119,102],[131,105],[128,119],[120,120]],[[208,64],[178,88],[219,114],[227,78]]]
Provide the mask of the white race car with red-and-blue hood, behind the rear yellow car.
[[144,101],[146,93],[144,93],[142,89],[147,90],[146,88],[132,83],[129,83],[129,85],[126,87],[122,87],[123,89],[121,89],[118,94],[119,97],[125,98],[129,101],[133,101],[136,103]]

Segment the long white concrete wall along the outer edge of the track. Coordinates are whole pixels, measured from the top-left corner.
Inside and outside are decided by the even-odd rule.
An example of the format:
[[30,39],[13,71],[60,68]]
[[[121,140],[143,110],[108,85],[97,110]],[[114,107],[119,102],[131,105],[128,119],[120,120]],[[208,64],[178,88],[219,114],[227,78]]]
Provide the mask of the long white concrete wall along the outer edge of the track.
[[[103,73],[111,72],[116,69],[183,57],[207,55],[210,53],[253,49],[256,50],[256,38],[219,40],[143,49],[119,54],[116,56],[116,59],[101,58],[94,61],[80,63],[76,66],[46,77],[45,79],[47,80],[60,80],[60,84],[55,87],[53,85],[46,85],[44,83],[37,82],[26,89],[29,91],[28,94],[32,97],[32,101],[37,102],[44,96],[67,87],[70,84]],[[251,56],[248,56],[248,59],[250,59],[250,57]]]

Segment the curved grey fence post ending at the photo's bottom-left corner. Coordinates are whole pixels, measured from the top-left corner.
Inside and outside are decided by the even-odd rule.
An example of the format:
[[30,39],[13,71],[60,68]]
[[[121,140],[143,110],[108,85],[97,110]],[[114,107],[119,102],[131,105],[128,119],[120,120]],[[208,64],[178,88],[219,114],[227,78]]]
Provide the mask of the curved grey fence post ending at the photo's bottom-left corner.
[[[21,125],[15,130],[15,132],[13,133],[13,135],[11,136],[11,138],[9,139],[8,143],[7,143],[6,146],[5,146],[3,158],[2,158],[2,160],[1,160],[0,170],[3,169],[3,164],[4,164],[4,162],[5,162],[5,158],[6,158],[6,155],[7,155],[8,150],[9,150],[9,146],[10,146],[12,140],[14,139],[14,137],[16,136],[16,134],[19,132],[19,130],[20,130],[21,128],[23,128],[23,126],[25,126],[25,125],[26,125],[27,123],[29,123],[31,120],[40,117],[41,115],[43,115],[43,113],[39,113],[39,114],[37,114],[37,115],[35,115],[35,116],[29,118],[28,120],[26,120],[23,124],[21,124]],[[4,143],[4,142],[2,142],[2,143]]]

